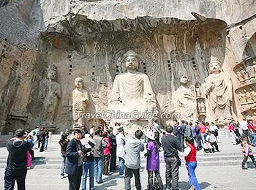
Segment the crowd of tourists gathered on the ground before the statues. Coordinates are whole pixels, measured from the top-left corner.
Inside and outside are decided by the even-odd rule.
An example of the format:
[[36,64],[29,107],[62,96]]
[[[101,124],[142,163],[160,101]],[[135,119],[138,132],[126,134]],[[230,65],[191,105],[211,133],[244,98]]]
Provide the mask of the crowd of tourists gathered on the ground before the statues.
[[[174,121],[173,126],[165,130],[159,128],[154,122],[146,132],[138,129],[135,134],[127,137],[127,133],[116,123],[114,129],[94,127],[89,132],[85,129],[75,129],[74,137],[69,140],[68,130],[61,135],[61,178],[69,180],[69,190],[86,189],[86,179],[89,175],[89,189],[94,189],[96,183],[102,183],[102,175],[111,175],[118,172],[124,178],[126,190],[131,189],[131,178],[135,177],[135,188],[142,189],[140,183],[140,153],[146,148],[146,170],[148,172],[148,190],[163,189],[162,177],[159,172],[159,152],[163,151],[165,159],[166,189],[179,189],[178,170],[181,166],[181,156],[184,156],[188,172],[189,190],[200,189],[195,175],[197,167],[197,151],[203,149],[204,153],[219,151],[217,145],[218,127],[214,123],[187,121]],[[246,128],[247,126],[247,128]],[[239,128],[242,134],[239,132]],[[252,121],[230,121],[228,126],[231,142],[241,144],[244,153],[242,169],[250,157],[256,168],[252,145],[255,145],[255,124]],[[5,190],[14,189],[15,180],[18,189],[25,189],[27,169],[34,159],[33,149],[45,151],[48,147],[48,130],[37,126],[31,132],[18,129],[15,137],[7,141],[9,151],[7,168],[4,175]],[[146,140],[146,146],[143,143]],[[116,162],[118,161],[118,167]]]

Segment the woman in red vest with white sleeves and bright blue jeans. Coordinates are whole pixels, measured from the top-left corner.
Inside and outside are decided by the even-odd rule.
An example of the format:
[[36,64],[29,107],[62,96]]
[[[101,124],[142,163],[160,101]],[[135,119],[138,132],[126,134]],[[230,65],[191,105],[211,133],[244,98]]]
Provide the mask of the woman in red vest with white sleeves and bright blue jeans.
[[197,167],[197,148],[195,148],[194,140],[191,137],[186,137],[185,143],[187,147],[184,149],[184,157],[189,175],[189,190],[200,190],[197,177],[195,176],[195,168]]

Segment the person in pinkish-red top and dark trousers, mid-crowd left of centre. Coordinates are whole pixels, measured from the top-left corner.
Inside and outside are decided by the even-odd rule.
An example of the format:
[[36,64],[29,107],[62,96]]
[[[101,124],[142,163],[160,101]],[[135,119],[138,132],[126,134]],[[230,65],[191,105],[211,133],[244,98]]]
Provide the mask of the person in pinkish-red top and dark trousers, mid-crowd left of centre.
[[109,160],[110,160],[110,149],[111,149],[111,145],[110,145],[110,139],[108,137],[108,132],[103,132],[102,134],[103,140],[105,140],[105,142],[107,142],[107,146],[106,148],[104,148],[104,159],[103,159],[103,175],[109,175],[108,172],[108,166],[109,166]]

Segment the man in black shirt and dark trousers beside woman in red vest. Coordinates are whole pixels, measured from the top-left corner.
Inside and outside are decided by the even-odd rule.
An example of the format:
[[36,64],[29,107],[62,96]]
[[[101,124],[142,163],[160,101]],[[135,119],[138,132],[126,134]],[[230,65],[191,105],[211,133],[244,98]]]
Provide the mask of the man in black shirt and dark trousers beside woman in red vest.
[[173,127],[166,127],[166,134],[162,137],[162,148],[164,149],[166,170],[166,189],[178,189],[178,167],[181,165],[181,159],[178,157],[178,151],[181,151],[181,143],[173,134]]

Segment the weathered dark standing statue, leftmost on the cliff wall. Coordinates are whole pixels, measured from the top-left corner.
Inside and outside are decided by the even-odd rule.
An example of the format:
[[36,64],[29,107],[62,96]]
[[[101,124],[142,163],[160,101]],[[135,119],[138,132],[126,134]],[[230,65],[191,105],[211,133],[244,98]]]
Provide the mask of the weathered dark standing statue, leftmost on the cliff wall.
[[56,80],[57,67],[53,64],[48,66],[47,78],[39,83],[39,99],[43,104],[42,125],[53,127],[56,107],[61,98],[61,86]]

